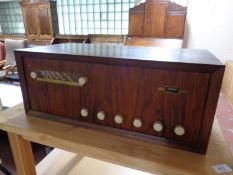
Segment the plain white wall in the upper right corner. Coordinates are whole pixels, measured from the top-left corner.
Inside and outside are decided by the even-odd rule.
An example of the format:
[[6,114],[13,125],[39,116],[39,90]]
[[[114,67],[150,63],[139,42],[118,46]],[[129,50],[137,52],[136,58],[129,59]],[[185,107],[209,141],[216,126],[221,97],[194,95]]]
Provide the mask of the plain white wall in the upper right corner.
[[233,0],[189,0],[185,46],[233,60]]

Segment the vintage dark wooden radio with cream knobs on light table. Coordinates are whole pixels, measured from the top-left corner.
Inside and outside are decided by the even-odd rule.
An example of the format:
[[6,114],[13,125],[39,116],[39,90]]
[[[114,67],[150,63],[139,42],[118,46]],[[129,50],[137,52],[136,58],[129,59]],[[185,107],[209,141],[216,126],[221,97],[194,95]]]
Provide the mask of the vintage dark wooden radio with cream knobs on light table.
[[224,73],[209,52],[68,43],[15,54],[30,116],[206,152]]

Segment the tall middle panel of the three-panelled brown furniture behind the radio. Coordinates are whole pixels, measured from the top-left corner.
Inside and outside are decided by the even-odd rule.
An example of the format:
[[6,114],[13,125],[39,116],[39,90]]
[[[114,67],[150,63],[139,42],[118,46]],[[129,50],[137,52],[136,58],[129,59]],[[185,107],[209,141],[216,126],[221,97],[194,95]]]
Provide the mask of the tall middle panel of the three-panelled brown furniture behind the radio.
[[146,4],[144,36],[164,36],[167,6],[167,2]]

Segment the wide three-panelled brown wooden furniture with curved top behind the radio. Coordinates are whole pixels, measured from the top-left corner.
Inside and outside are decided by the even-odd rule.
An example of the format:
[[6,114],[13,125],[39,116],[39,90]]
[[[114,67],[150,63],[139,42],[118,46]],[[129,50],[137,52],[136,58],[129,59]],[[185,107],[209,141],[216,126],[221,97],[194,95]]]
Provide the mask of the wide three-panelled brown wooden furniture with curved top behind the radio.
[[183,38],[187,8],[168,0],[147,0],[129,11],[129,36]]

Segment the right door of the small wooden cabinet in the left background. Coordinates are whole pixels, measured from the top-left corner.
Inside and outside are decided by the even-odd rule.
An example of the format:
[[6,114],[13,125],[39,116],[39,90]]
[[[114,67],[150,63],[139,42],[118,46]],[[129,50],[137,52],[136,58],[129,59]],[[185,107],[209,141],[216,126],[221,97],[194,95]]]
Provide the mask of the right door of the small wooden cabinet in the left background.
[[37,18],[38,18],[38,32],[40,37],[51,37],[53,35],[53,31],[52,31],[50,6],[49,5],[38,6]]

